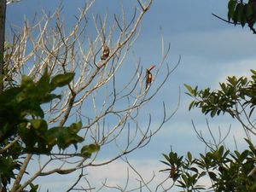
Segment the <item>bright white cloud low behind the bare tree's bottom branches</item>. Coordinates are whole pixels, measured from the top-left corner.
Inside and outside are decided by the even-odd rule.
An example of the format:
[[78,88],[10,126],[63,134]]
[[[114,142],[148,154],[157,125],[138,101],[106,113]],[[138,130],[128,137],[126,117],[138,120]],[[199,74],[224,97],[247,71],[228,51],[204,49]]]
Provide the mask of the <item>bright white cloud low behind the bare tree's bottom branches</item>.
[[[144,182],[148,183],[154,178],[152,182],[148,183],[148,187],[152,190],[168,176],[167,173],[159,172],[165,166],[158,160],[132,159],[129,160],[129,162],[136,169],[136,172],[139,172],[143,177]],[[106,178],[108,178],[108,180],[105,184],[109,187],[121,186],[125,188],[126,183],[128,183],[125,191],[140,186],[140,176],[137,175],[125,161],[117,160],[108,166],[89,168],[88,171],[90,173],[90,179],[95,181],[94,183],[98,186],[101,186],[101,183],[104,183]],[[170,183],[172,183],[171,180],[169,181],[169,184]]]

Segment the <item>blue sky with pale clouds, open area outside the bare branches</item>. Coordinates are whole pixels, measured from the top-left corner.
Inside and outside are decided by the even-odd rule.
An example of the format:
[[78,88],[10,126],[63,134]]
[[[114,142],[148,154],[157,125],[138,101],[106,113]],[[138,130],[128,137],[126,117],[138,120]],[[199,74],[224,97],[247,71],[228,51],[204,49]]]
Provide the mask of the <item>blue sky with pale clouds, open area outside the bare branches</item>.
[[[129,3],[127,0],[123,2],[125,6],[136,3],[135,1]],[[19,3],[10,3],[7,8],[7,25],[19,26],[24,18],[31,19],[42,9],[54,10],[58,3],[57,0],[21,0]],[[73,15],[83,3],[84,0],[63,1],[64,18],[67,23],[73,20]],[[119,1],[98,0],[91,13],[96,14],[104,9],[110,14],[118,12]],[[132,47],[132,51],[141,58],[145,67],[150,63],[157,65],[160,61],[162,33],[165,43],[171,44],[171,52],[166,63],[171,67],[175,66],[181,55],[179,66],[160,94],[146,108],[155,114],[152,125],[157,125],[159,122],[161,112],[159,106],[162,102],[166,102],[168,112],[172,113],[180,99],[177,113],[145,148],[129,155],[132,165],[137,167],[143,176],[148,177],[153,171],[158,175],[155,183],[165,177],[159,172],[165,167],[160,163],[160,160],[163,160],[161,154],[169,153],[171,147],[181,155],[185,155],[188,151],[195,155],[204,152],[205,146],[196,138],[191,120],[206,137],[209,137],[207,120],[217,137],[218,127],[226,132],[231,125],[227,146],[235,148],[233,136],[236,137],[240,148],[245,146],[242,142],[244,134],[241,127],[229,116],[211,119],[201,114],[200,109],[188,111],[191,98],[184,93],[183,84],[198,85],[201,89],[206,87],[218,89],[218,82],[223,82],[228,75],[248,75],[249,69],[255,66],[256,36],[248,27],[241,28],[224,23],[212,16],[212,13],[226,18],[227,1],[154,0],[152,7],[143,18],[140,36]],[[131,15],[131,12],[127,15]],[[129,58],[128,60],[131,61]],[[105,177],[108,177],[109,185],[124,184],[126,167],[127,165],[119,160],[110,166],[89,169],[88,172],[95,183],[103,182]],[[63,182],[56,178],[43,178],[40,182],[45,188],[50,186],[50,189],[57,189],[58,186],[63,185]],[[45,188],[42,191],[45,191]]]

